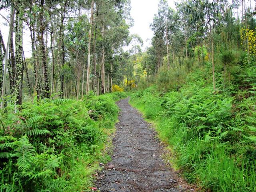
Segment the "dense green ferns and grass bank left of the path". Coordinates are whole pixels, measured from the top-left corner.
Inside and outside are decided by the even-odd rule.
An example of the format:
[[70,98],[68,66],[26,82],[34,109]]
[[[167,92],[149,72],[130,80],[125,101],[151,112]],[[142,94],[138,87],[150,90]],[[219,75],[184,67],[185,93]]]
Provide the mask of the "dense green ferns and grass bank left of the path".
[[8,105],[0,117],[0,191],[89,191],[124,92]]

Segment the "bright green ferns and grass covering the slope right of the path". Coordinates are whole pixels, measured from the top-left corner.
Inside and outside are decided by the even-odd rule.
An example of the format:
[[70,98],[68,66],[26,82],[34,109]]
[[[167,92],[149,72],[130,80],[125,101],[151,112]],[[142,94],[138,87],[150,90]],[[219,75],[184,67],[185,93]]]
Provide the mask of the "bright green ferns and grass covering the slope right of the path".
[[230,81],[210,63],[190,73],[181,88],[138,90],[131,104],[156,123],[160,138],[189,182],[203,190],[256,191],[256,63],[236,66]]

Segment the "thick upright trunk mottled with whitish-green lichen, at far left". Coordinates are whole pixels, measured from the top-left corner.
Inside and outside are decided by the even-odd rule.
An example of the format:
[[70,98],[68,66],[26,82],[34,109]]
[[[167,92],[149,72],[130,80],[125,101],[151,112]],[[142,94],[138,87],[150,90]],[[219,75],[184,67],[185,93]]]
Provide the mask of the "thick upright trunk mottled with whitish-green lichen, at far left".
[[16,14],[16,34],[15,34],[15,49],[16,49],[16,72],[14,83],[14,98],[16,104],[22,104],[22,80],[23,80],[23,13],[24,5],[22,0],[18,0],[16,6],[19,8]]

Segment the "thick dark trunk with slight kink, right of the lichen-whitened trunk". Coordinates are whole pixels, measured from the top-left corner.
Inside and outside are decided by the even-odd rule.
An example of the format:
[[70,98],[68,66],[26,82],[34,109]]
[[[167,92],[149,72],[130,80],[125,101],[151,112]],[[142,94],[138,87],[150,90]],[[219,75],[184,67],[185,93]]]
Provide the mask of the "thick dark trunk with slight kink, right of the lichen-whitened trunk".
[[44,24],[44,0],[41,0],[40,3],[40,17],[39,17],[39,22],[40,22],[40,31],[39,31],[39,42],[40,42],[40,51],[41,51],[41,56],[42,56],[42,69],[44,72],[44,97],[45,98],[50,98],[50,87],[49,87],[49,79],[48,79],[48,70],[47,70],[47,62],[46,62],[46,51],[45,51],[45,45],[44,45],[44,29],[45,29],[45,24]]

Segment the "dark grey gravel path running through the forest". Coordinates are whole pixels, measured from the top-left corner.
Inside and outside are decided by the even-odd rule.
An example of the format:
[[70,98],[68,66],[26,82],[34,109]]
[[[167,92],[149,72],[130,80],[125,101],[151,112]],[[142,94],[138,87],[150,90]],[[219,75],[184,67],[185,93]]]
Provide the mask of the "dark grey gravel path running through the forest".
[[128,98],[118,106],[120,122],[116,124],[112,161],[102,165],[97,188],[102,192],[195,191],[164,163],[164,149],[156,133],[128,104]]

